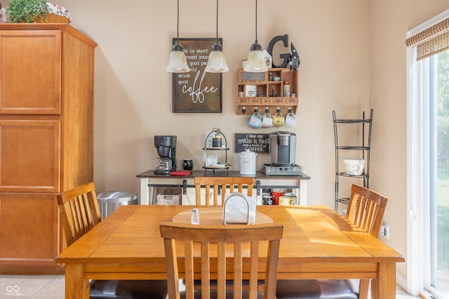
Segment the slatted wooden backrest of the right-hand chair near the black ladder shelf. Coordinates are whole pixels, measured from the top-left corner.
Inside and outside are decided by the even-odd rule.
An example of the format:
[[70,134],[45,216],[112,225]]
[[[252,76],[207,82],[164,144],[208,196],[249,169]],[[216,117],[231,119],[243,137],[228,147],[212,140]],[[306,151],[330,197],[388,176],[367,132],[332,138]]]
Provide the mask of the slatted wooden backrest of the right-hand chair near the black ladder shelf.
[[387,207],[387,197],[353,184],[346,218],[362,230],[377,237]]

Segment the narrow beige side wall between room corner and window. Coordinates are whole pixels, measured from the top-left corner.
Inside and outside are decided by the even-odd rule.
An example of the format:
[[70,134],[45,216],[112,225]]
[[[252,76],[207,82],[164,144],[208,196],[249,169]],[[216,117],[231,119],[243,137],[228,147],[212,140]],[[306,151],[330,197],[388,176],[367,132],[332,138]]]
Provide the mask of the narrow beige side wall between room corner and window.
[[[407,253],[407,99],[406,33],[449,8],[447,0],[375,0],[370,2],[370,106],[373,167],[370,187],[389,197],[384,221],[390,239]],[[398,264],[406,277],[406,264]]]

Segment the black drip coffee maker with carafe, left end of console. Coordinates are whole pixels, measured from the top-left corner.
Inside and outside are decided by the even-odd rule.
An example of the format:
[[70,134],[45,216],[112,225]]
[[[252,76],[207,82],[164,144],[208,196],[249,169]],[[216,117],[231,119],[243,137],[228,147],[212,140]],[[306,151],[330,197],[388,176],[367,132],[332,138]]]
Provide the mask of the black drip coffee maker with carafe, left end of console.
[[159,163],[154,174],[170,174],[177,168],[176,136],[154,136],[154,147],[159,155]]

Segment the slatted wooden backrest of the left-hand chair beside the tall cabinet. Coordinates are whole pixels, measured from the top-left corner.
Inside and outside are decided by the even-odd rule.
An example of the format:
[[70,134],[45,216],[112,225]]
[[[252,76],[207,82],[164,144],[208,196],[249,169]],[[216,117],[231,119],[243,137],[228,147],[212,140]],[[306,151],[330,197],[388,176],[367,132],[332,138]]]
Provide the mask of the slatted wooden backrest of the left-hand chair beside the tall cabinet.
[[70,246],[101,221],[95,185],[86,183],[57,197],[66,244]]

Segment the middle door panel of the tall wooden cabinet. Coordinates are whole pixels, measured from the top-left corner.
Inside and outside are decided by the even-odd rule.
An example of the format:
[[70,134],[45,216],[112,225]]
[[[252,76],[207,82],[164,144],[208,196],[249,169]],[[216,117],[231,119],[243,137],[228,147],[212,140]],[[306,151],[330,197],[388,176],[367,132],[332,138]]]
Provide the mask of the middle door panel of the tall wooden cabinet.
[[0,118],[0,192],[60,192],[60,121]]

